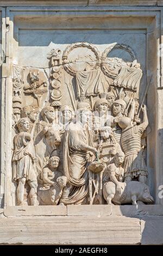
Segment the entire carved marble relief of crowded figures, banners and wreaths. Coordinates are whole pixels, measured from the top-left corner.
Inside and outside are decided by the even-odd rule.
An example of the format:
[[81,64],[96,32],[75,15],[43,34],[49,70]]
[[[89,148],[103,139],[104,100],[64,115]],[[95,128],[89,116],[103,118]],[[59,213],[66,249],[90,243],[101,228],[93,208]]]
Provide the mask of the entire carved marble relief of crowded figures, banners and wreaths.
[[[114,49],[127,51],[131,62],[109,57]],[[27,203],[26,186],[29,205],[153,203],[146,95],[139,102],[142,70],[132,48],[111,44],[101,55],[77,42],[47,58],[49,78],[43,70],[13,67],[16,204]]]

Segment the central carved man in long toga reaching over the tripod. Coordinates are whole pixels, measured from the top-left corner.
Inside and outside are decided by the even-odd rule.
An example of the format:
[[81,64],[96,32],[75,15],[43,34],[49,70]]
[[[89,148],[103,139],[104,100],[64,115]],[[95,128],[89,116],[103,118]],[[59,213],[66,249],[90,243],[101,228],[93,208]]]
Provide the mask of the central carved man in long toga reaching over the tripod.
[[[65,132],[64,137],[64,175],[68,179],[60,202],[64,204],[81,204],[89,191],[88,163],[92,159],[90,153],[96,154],[93,138],[88,126],[91,112],[87,108],[79,108],[74,119]],[[70,195],[71,194],[71,195]]]

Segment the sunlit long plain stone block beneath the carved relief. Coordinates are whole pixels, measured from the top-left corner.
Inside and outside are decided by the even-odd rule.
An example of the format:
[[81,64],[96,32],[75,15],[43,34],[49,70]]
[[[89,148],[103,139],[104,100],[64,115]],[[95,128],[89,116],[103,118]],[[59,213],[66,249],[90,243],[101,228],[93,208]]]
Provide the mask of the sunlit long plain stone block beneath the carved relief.
[[[2,222],[3,221],[3,222]],[[140,222],[127,217],[32,217],[0,220],[0,243],[139,244]],[[12,225],[11,225],[12,223]],[[46,228],[45,228],[46,227]]]

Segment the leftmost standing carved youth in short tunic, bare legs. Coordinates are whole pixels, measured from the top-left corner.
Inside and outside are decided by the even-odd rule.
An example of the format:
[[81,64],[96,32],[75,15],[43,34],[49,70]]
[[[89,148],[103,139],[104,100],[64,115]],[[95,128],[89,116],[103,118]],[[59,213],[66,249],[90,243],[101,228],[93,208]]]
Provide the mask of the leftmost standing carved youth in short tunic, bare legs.
[[37,179],[34,169],[34,142],[28,133],[29,119],[21,118],[17,122],[20,133],[15,135],[15,150],[12,157],[13,163],[13,181],[18,182],[17,186],[17,204],[23,204],[24,185],[28,182],[30,186],[30,202],[31,205],[37,205]]

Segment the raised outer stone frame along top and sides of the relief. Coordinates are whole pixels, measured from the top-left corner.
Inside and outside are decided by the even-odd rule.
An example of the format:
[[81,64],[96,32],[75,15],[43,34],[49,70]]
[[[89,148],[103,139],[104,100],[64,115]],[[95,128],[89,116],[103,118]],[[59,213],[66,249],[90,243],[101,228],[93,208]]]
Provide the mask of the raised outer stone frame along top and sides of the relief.
[[[11,164],[9,161],[7,161],[7,157],[11,159],[11,144],[12,144],[12,139],[11,139],[11,113],[12,113],[12,106],[11,104],[7,104],[7,99],[11,98],[12,95],[12,52],[13,52],[13,44],[8,44],[9,41],[13,40],[14,36],[14,17],[17,15],[23,16],[26,13],[27,15],[33,15],[35,14],[36,16],[43,15],[45,12],[49,12],[49,14],[55,14],[55,15],[70,15],[73,16],[78,11],[78,15],[93,15],[93,13],[96,13],[98,15],[104,15],[106,16],[112,16],[112,14],[120,17],[137,17],[137,16],[146,16],[146,17],[153,17],[153,20],[156,22],[156,36],[158,38],[157,40],[157,51],[160,51],[160,45],[162,42],[161,38],[161,32],[162,32],[162,26],[160,21],[163,19],[163,8],[162,7],[88,7],[88,8],[54,8],[54,7],[47,7],[46,10],[45,8],[36,8],[36,7],[27,7],[27,8],[22,8],[22,7],[9,7],[7,8],[7,17],[5,19],[5,27],[9,28],[9,30],[5,33],[6,39],[3,38],[3,44],[6,43],[7,48],[6,48],[6,62],[2,65],[2,90],[3,90],[3,103],[2,103],[2,113],[5,113],[2,117],[2,144],[1,147],[5,151],[5,155],[2,155],[2,165],[3,165],[3,173],[5,173],[5,205],[6,206],[11,205],[10,203],[10,198],[9,194],[10,193],[10,184],[8,182],[8,176],[9,172],[11,169]],[[146,27],[148,31],[148,27]],[[147,40],[150,38],[150,33],[147,35]],[[4,43],[5,42],[5,43]],[[162,45],[161,45],[162,46]],[[147,44],[147,51],[148,51],[148,44]],[[162,82],[162,76],[161,70],[162,70],[162,59],[160,56],[157,56],[157,78],[156,78],[156,84],[157,84],[157,99],[155,100],[156,102],[156,127],[155,127],[155,138],[156,138],[156,143],[155,143],[155,172],[156,172],[156,178],[155,178],[155,189],[159,187],[159,185],[163,184],[163,175],[161,178],[161,170],[163,169],[163,162],[161,161],[161,147],[163,147],[163,136],[159,137],[159,130],[163,129],[163,125],[161,123],[161,117],[163,119],[163,115],[161,111],[159,111],[159,105],[163,104],[161,101],[161,97],[163,98],[163,82]],[[147,78],[149,77],[150,73],[150,65],[148,64],[147,61]],[[147,81],[148,82],[148,81]],[[5,99],[5,101],[4,101]],[[161,103],[162,102],[162,103]],[[4,112],[3,112],[4,111]],[[154,121],[154,120],[153,120]],[[158,191],[155,191],[155,196]],[[156,198],[156,204],[163,204],[163,199]]]

